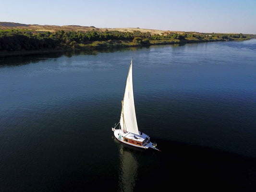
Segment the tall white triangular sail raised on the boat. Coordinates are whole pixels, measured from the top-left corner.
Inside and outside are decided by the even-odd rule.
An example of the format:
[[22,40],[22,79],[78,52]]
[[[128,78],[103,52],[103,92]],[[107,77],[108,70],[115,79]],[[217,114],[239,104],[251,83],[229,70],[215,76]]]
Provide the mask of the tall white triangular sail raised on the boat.
[[133,89],[133,59],[128,72],[124,96],[122,100],[122,112],[120,125],[123,131],[139,134],[135,107],[134,107],[134,89]]

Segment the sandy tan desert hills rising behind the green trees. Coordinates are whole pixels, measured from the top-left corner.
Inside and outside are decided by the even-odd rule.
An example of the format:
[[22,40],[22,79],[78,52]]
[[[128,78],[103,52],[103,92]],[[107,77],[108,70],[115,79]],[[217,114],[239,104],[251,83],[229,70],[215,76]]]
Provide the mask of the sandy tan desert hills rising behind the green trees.
[[28,29],[33,31],[49,31],[49,32],[56,32],[56,31],[121,31],[121,32],[134,32],[140,31],[142,33],[149,32],[151,35],[159,34],[168,34],[168,33],[179,33],[182,34],[184,32],[180,31],[163,31],[163,30],[156,30],[156,29],[141,29],[137,28],[96,28],[94,26],[80,26],[80,25],[38,25],[38,24],[19,24],[19,23],[11,23],[11,22],[0,22],[0,29]]

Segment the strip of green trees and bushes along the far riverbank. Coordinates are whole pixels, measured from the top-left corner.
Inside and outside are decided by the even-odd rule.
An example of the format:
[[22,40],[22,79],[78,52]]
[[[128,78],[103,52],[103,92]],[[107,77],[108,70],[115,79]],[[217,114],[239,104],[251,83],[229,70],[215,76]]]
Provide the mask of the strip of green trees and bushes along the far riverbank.
[[256,35],[244,34],[207,34],[169,33],[151,35],[140,31],[57,31],[38,32],[31,30],[0,30],[0,56],[45,53],[69,49],[102,49],[119,47],[137,47],[160,44],[179,44],[210,41],[246,40]]

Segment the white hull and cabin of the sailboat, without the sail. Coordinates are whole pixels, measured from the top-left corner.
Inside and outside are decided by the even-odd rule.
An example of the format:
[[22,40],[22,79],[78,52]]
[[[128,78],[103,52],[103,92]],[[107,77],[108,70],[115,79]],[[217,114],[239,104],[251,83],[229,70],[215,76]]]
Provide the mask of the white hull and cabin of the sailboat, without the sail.
[[121,129],[113,129],[113,132],[115,138],[124,144],[128,144],[138,148],[153,148],[158,150],[156,146],[149,141],[149,137],[145,133],[137,135],[131,132],[123,132]]

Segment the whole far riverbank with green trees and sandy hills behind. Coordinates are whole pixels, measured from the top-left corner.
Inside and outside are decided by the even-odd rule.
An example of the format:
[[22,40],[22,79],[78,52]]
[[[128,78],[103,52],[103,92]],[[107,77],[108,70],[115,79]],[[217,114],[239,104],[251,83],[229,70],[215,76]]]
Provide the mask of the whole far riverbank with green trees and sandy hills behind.
[[0,22],[0,57],[70,50],[144,47],[212,41],[248,40],[253,34],[162,31],[140,28],[28,25]]

